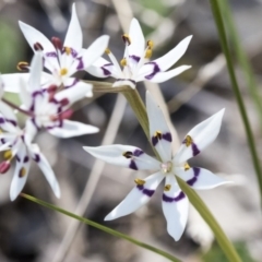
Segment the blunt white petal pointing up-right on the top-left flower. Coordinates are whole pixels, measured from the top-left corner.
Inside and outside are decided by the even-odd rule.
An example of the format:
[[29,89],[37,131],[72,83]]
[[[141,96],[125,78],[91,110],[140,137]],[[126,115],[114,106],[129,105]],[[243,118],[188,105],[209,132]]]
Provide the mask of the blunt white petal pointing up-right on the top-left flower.
[[86,70],[94,63],[106,50],[109,36],[103,35],[98,37],[83,53],[83,69]]

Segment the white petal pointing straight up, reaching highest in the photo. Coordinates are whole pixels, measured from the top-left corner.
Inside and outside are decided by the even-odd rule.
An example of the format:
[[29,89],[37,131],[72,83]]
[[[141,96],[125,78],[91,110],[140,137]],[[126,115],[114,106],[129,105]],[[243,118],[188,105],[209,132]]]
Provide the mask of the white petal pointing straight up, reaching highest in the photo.
[[63,43],[64,47],[71,47],[78,52],[82,49],[83,34],[80,26],[80,22],[75,11],[75,3],[72,7],[72,16],[69,24],[68,33]]

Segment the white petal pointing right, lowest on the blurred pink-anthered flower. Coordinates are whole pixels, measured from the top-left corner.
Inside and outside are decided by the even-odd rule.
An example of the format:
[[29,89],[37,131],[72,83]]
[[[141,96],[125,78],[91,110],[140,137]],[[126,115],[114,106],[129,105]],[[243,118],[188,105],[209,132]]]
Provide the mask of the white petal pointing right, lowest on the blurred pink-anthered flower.
[[63,120],[61,128],[55,127],[55,128],[48,129],[49,133],[61,139],[68,139],[68,138],[83,135],[83,134],[97,133],[98,131],[99,131],[98,128],[93,127],[91,124],[70,121],[67,119]]

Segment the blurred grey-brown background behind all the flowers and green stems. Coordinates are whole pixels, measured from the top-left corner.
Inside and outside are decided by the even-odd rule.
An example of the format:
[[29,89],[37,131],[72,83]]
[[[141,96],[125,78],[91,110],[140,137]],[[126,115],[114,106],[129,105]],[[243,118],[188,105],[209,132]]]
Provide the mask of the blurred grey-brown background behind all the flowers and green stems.
[[[176,66],[191,64],[181,75],[156,85],[146,84],[164,106],[180,141],[196,123],[226,108],[221,133],[200,156],[190,160],[205,167],[234,186],[199,191],[245,262],[262,261],[262,223],[259,190],[247,145],[243,126],[231,91],[225,59],[207,0],[75,0],[84,35],[84,47],[102,34],[110,35],[109,48],[118,60],[123,56],[121,34],[128,31],[132,16],[143,28],[146,39],[155,44],[157,58],[188,35],[193,35],[186,55]],[[16,72],[19,61],[31,61],[33,52],[17,21],[21,20],[48,38],[64,38],[71,16],[71,0],[0,1],[0,71]],[[262,84],[262,1],[229,1],[258,85]],[[241,70],[236,66],[241,94],[252,123],[262,157],[262,130],[258,111],[250,98]],[[97,80],[87,73],[79,76]],[[106,80],[112,82],[112,80]],[[144,97],[143,83],[138,90]],[[9,96],[10,99],[17,99]],[[262,102],[261,102],[262,103]],[[104,217],[127,195],[138,174],[96,162],[83,145],[132,144],[152,153],[145,135],[127,105],[117,94],[96,94],[93,99],[74,106],[73,119],[99,127],[100,132],[76,139],[58,140],[46,132],[36,141],[58,177],[61,199],[57,200],[37,166],[32,167],[23,192],[51,202],[71,212],[83,213],[114,229],[151,243],[187,262],[227,261],[206,224],[190,209],[186,233],[179,242],[167,234],[162,212],[162,187],[152,201],[138,212],[112,222]],[[21,124],[23,122],[21,121]],[[174,129],[175,132],[175,129]],[[176,150],[176,148],[174,148]],[[13,170],[0,177],[0,261],[1,262],[162,262],[155,253],[87,226],[72,218],[19,198],[9,200]],[[76,210],[78,209],[78,210]]]

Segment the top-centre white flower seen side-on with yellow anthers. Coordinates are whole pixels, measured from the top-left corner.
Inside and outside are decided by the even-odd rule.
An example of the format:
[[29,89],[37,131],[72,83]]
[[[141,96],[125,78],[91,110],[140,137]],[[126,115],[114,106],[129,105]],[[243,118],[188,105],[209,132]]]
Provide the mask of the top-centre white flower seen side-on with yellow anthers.
[[116,57],[107,49],[106,53],[109,56],[110,62],[99,58],[86,71],[97,78],[115,78],[116,82],[112,86],[129,85],[135,88],[135,84],[144,80],[162,83],[191,68],[191,66],[181,66],[167,71],[186,52],[191,38],[192,36],[186,37],[165,56],[148,61],[153,51],[153,41],[148,40],[145,47],[143,32],[138,20],[133,19],[129,35],[122,36],[126,50],[120,64],[123,69],[121,70]]

